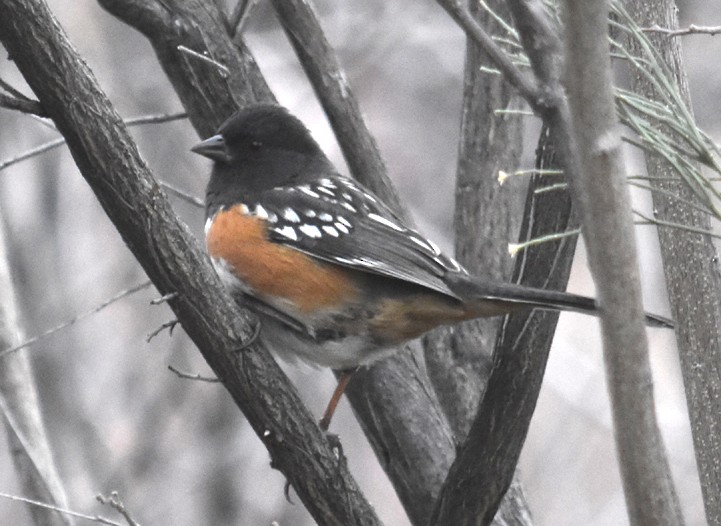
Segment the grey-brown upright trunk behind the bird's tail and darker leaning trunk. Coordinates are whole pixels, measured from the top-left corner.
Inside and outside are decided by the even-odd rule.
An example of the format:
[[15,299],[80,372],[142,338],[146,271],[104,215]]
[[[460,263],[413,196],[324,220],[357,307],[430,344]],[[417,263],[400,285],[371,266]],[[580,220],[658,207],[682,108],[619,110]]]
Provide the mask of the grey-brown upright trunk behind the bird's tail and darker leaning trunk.
[[[474,20],[488,27],[490,34],[501,31],[500,24],[478,2],[468,4]],[[501,14],[506,12],[503,2],[491,5]],[[496,112],[515,108],[518,99],[512,96],[513,88],[502,76],[483,71],[489,63],[487,54],[469,38],[456,175],[455,253],[473,274],[508,281],[513,260],[508,257],[507,243],[518,237],[528,179],[517,178],[503,187],[496,179],[500,170],[513,171],[518,166],[522,120],[518,114]],[[423,339],[428,372],[457,442],[468,437],[481,395],[486,390],[493,347],[502,321],[501,318],[475,320],[439,329]],[[511,384],[505,387],[508,385]],[[514,469],[515,463],[511,474]],[[446,480],[449,484],[449,479]],[[441,499],[451,486],[452,482],[444,486]],[[474,502],[485,493],[482,487],[469,484],[455,489],[467,492],[468,500]],[[458,499],[455,502],[461,499],[459,493],[454,493],[454,497]],[[499,501],[501,497],[503,501],[495,517],[497,524],[531,523],[520,483],[501,493]],[[469,510],[469,515],[476,515],[475,510]]]

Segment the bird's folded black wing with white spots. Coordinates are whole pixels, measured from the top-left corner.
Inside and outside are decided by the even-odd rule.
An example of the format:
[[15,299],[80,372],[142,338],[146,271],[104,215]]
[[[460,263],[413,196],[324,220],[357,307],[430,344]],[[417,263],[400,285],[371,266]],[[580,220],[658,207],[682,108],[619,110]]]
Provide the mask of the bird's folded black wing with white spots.
[[259,200],[261,210],[249,203],[250,213],[267,216],[275,242],[457,297],[444,277],[465,270],[350,179],[330,176],[311,184],[278,187],[263,192]]

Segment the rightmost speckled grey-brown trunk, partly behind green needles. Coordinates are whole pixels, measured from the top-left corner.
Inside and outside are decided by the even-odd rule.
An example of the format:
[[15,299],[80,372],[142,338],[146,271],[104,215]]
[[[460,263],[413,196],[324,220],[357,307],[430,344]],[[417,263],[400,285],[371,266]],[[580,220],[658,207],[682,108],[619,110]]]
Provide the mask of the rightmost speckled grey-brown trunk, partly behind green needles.
[[[670,0],[624,3],[631,17],[641,26],[678,27],[676,5]],[[656,35],[652,43],[690,108],[686,70],[681,43]],[[640,55],[637,43],[629,43]],[[644,97],[660,100],[647,78],[635,76],[633,89]],[[690,111],[690,110],[689,110]],[[653,126],[664,128],[659,122]],[[664,128],[665,129],[665,128]],[[672,133],[668,130],[668,133]],[[657,220],[683,224],[697,232],[709,230],[709,217],[693,205],[698,198],[679,179],[673,167],[659,155],[646,155],[646,171],[653,174],[652,184],[663,190],[653,192],[653,209]],[[669,197],[681,196],[682,200]],[[701,480],[706,519],[721,525],[721,270],[713,239],[703,234],[661,228],[663,267],[668,282],[671,312],[677,322],[676,337],[681,371],[686,389],[686,403],[691,419],[696,462]]]

